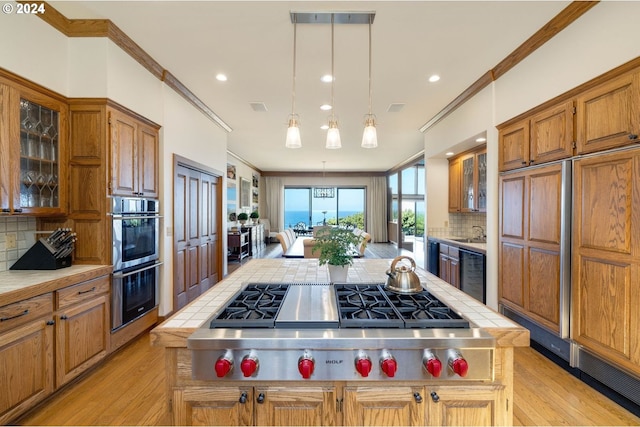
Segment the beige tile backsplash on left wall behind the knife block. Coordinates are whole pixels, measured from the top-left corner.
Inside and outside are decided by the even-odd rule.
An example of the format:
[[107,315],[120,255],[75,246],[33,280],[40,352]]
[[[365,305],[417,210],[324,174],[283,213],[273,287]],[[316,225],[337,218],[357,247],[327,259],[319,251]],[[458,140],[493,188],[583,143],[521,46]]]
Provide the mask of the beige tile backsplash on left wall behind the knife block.
[[[35,232],[35,218],[0,216],[0,271],[8,270],[33,246],[36,242]],[[7,248],[7,243],[11,246],[13,240],[15,240],[15,248]]]

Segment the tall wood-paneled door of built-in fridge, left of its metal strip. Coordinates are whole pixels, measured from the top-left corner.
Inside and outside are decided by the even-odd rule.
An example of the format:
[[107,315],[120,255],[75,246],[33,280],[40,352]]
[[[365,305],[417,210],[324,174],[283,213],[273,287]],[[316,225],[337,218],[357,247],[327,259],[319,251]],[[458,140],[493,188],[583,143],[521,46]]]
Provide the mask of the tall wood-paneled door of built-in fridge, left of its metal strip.
[[499,179],[499,301],[554,332],[560,332],[563,173],[556,163]]

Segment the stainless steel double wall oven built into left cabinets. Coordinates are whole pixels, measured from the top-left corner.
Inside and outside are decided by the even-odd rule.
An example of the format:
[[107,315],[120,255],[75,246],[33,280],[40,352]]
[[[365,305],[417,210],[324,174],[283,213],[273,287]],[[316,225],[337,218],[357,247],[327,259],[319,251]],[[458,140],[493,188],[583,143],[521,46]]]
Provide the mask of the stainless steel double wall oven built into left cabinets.
[[156,199],[112,199],[111,329],[158,305],[160,211]]

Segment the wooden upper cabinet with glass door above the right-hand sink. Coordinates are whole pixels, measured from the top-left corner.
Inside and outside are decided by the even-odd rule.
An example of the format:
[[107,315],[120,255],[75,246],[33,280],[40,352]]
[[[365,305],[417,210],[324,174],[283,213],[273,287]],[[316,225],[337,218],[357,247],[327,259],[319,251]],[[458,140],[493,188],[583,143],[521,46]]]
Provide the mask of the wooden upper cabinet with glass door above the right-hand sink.
[[449,160],[449,212],[486,212],[486,145]]

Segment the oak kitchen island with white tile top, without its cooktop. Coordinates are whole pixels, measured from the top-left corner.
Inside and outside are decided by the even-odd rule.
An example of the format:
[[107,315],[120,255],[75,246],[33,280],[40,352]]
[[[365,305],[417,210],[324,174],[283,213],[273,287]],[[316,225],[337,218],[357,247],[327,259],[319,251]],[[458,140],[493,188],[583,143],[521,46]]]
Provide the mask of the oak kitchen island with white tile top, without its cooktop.
[[[347,282],[384,283],[385,271],[390,264],[390,259],[354,260]],[[417,273],[429,292],[469,322],[471,334],[491,338],[494,345],[490,352],[492,363],[488,378],[470,376],[448,381],[444,378],[446,375],[432,378],[417,371],[415,379],[402,377],[394,381],[378,377],[339,381],[314,381],[302,377],[295,381],[194,379],[189,337],[202,331],[200,328],[208,325],[209,318],[244,285],[249,282],[329,282],[326,267],[318,267],[316,259],[255,259],[151,332],[153,344],[166,349],[167,399],[172,408],[173,423],[511,425],[513,348],[529,344],[528,331],[441,279],[420,269]],[[381,336],[401,334],[387,331],[380,332]],[[304,335],[300,334],[301,337]],[[446,334],[444,336],[446,338]],[[393,347],[391,351],[394,351]],[[402,364],[402,359],[398,360]],[[213,371],[214,367],[210,369]],[[295,366],[293,369],[295,371]]]

